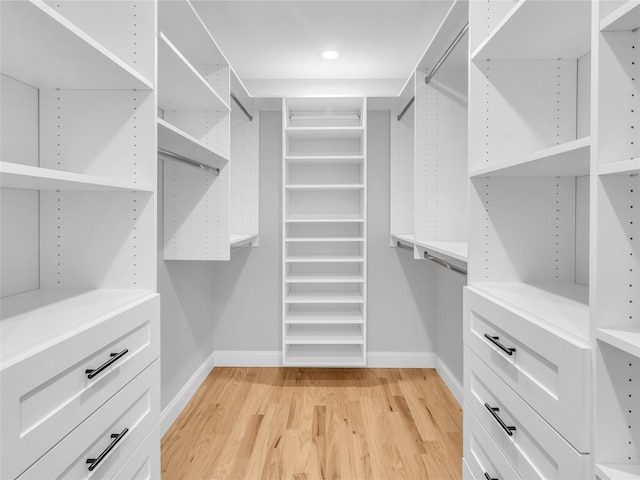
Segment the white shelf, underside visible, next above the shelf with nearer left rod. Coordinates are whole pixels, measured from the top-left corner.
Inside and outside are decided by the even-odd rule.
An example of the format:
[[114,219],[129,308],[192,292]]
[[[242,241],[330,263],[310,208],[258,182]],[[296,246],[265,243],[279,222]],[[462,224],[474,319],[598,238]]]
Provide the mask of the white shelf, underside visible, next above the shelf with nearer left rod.
[[162,33],[158,38],[158,106],[165,110],[231,111]]

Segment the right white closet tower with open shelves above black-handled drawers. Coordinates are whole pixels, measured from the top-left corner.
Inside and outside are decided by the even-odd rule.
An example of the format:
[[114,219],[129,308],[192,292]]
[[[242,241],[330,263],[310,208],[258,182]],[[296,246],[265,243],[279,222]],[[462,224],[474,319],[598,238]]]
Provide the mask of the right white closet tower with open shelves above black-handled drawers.
[[[521,477],[588,478],[591,2],[469,8],[465,415]],[[510,442],[483,402],[517,426]],[[479,479],[472,433],[465,468]]]

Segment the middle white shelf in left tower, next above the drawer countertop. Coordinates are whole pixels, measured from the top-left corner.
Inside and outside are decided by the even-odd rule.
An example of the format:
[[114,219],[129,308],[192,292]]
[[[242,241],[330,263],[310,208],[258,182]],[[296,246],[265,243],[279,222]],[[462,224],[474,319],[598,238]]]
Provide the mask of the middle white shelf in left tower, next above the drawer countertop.
[[0,162],[0,185],[2,188],[23,190],[65,190],[65,191],[128,191],[153,192],[153,185],[137,184],[92,175],[70,173],[49,168]]

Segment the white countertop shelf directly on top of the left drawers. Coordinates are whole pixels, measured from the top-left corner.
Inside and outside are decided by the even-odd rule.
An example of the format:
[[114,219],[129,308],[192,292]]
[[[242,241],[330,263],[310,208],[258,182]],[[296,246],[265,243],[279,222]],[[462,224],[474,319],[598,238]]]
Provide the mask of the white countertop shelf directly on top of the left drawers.
[[155,295],[149,290],[41,289],[0,300],[3,367]]

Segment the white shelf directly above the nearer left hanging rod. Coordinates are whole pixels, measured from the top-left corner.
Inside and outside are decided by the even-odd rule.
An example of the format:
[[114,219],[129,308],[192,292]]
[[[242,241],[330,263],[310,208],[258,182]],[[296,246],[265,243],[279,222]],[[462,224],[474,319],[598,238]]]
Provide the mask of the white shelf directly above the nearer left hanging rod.
[[224,155],[161,118],[158,118],[158,148],[216,168],[229,161]]

